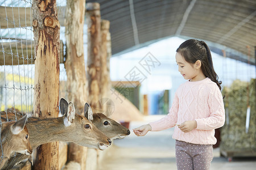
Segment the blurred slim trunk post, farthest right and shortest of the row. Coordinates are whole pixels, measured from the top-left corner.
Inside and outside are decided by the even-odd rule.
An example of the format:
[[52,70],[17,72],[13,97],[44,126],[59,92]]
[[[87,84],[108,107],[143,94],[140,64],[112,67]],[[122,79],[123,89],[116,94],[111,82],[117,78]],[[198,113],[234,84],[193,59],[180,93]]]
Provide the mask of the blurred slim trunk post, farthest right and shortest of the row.
[[[109,73],[109,60],[111,55],[108,52],[109,46],[109,32],[110,22],[108,20],[101,20],[101,113],[106,116],[110,116],[108,108],[106,107],[109,103],[110,97],[110,73]],[[97,111],[96,111],[97,112]]]

